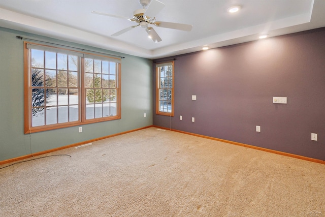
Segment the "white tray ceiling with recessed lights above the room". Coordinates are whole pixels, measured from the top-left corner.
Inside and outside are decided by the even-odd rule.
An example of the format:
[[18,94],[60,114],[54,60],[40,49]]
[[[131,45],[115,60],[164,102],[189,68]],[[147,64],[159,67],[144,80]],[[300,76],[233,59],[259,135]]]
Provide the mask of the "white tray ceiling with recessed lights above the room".
[[[193,25],[191,32],[153,26],[163,41],[148,39],[134,22],[91,13],[133,17],[138,0],[0,0],[0,26],[155,59],[325,26],[324,0],[159,0],[157,21]],[[241,5],[236,14],[226,10]]]

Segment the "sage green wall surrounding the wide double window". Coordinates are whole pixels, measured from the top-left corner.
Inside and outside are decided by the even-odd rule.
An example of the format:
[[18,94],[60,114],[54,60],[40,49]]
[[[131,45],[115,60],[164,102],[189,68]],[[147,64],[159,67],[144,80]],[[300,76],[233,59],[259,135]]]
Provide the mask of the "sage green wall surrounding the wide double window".
[[[125,56],[121,119],[24,134],[23,41],[16,36]],[[0,161],[152,125],[152,60],[0,27]],[[146,117],[144,117],[146,113]]]

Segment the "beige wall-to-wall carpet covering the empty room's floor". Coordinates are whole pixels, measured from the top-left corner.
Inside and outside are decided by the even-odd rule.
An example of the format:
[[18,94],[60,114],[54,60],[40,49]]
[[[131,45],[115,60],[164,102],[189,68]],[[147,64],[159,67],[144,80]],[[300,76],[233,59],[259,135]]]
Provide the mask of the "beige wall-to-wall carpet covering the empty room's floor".
[[325,216],[322,164],[156,128],[52,154],[0,169],[0,216]]

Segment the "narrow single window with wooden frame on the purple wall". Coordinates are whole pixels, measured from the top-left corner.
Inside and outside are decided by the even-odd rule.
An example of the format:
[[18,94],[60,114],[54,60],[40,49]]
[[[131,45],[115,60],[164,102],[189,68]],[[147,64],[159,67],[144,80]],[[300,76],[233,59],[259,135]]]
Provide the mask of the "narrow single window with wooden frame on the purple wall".
[[156,65],[156,114],[174,116],[174,62]]

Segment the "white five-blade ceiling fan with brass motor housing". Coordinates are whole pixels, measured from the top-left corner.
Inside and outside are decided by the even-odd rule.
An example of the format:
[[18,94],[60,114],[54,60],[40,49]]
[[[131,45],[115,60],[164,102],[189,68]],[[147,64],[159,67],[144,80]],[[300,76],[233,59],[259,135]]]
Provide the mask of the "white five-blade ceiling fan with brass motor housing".
[[139,3],[143,8],[135,10],[133,18],[127,18],[123,16],[106,14],[106,13],[96,12],[96,11],[92,11],[91,13],[105,15],[109,17],[127,19],[129,21],[138,23],[137,25],[124,28],[119,32],[114,33],[112,36],[119,36],[123,33],[128,32],[131,29],[141,26],[142,28],[146,29],[149,38],[151,38],[155,43],[160,42],[161,38],[158,36],[156,31],[150,25],[155,25],[157,27],[163,27],[163,28],[179,29],[183,31],[190,31],[192,29],[192,25],[188,25],[188,24],[156,21],[155,15],[165,7],[165,4],[162,2],[159,2],[157,0],[139,0]]

